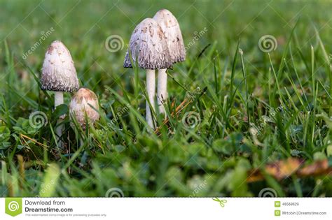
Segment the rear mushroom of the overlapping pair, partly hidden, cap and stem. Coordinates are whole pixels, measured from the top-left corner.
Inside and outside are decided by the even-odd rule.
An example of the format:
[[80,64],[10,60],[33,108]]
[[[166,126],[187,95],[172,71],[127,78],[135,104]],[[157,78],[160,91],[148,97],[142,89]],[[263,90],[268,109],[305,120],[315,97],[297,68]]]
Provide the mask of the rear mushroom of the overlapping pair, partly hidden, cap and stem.
[[[184,47],[184,39],[182,38],[181,29],[177,18],[167,9],[158,10],[153,16],[153,19],[158,22],[167,41],[167,47],[170,52],[171,62],[175,64],[186,59],[186,50]],[[158,70],[158,89],[157,100],[159,112],[165,114],[165,107],[163,103],[167,100],[167,73],[166,68]],[[165,114],[166,117],[166,114]]]

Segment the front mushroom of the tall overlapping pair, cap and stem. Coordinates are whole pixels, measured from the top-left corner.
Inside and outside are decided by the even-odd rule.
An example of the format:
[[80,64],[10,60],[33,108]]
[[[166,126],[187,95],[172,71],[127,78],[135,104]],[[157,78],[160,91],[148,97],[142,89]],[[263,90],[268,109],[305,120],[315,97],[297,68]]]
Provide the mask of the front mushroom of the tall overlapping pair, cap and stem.
[[132,32],[123,64],[125,68],[132,68],[130,54],[132,61],[137,63],[139,68],[146,69],[146,92],[148,94],[146,121],[148,126],[154,129],[155,122],[149,103],[155,110],[155,69],[168,68],[172,65],[165,35],[155,20],[144,19]]

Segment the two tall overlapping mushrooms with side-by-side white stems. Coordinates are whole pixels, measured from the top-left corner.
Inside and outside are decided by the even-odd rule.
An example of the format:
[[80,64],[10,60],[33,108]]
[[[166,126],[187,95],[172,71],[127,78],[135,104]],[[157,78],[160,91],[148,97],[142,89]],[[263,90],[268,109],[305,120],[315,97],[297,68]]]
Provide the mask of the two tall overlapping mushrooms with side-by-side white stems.
[[[159,10],[153,18],[141,21],[132,32],[123,66],[132,68],[130,59],[146,69],[146,121],[151,129],[155,120],[150,105],[155,109],[155,70],[158,70],[158,110],[165,114],[167,100],[167,68],[186,59],[186,50],[177,18],[167,9]],[[165,115],[166,117],[166,115]]]

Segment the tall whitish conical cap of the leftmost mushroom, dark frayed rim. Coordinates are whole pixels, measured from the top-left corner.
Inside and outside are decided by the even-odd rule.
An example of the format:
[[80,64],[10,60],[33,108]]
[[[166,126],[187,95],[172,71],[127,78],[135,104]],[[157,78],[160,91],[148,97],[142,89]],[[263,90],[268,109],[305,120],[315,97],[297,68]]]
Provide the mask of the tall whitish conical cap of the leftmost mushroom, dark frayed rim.
[[41,89],[70,92],[78,89],[74,61],[67,47],[60,41],[53,41],[45,54]]

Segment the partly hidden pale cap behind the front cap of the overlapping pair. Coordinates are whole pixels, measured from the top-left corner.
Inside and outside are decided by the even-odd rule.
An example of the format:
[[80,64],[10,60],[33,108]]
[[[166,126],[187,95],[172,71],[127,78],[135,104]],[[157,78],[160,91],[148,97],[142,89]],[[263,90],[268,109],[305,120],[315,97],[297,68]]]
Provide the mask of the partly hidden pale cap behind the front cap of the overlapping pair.
[[170,10],[161,9],[155,13],[153,19],[158,22],[165,34],[172,63],[184,61],[186,59],[186,50],[177,18],[174,17]]

